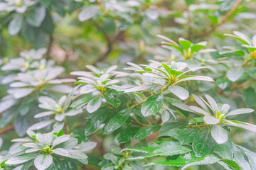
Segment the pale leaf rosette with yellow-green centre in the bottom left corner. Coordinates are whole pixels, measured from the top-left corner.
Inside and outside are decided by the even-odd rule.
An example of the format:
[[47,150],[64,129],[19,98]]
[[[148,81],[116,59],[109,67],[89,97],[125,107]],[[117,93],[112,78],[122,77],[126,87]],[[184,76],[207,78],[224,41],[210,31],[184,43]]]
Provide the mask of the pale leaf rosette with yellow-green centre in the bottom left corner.
[[70,135],[55,135],[52,132],[36,134],[30,130],[27,133],[29,137],[12,140],[20,145],[6,154],[1,166],[15,165],[19,169],[30,169],[35,166],[36,169],[43,170],[61,169],[64,167],[63,164],[87,164],[85,153],[96,146],[95,142],[78,144],[78,139]]

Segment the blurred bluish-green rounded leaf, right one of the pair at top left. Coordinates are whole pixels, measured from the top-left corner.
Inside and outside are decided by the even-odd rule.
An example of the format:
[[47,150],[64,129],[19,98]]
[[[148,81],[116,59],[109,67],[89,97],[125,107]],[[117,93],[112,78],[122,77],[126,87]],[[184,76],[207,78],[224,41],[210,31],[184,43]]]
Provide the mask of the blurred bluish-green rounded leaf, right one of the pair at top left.
[[40,27],[43,23],[43,19],[46,17],[46,7],[38,6],[34,7],[26,16],[26,21],[30,26]]

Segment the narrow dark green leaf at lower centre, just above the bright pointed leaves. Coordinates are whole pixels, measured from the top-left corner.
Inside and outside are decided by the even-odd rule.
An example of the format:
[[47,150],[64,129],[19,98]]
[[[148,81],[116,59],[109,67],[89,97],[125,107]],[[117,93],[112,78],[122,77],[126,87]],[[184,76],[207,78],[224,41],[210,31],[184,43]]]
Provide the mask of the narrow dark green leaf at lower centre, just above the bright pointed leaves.
[[158,131],[161,128],[160,125],[152,125],[149,127],[141,128],[135,135],[134,140],[143,140],[149,135],[152,135],[154,132]]

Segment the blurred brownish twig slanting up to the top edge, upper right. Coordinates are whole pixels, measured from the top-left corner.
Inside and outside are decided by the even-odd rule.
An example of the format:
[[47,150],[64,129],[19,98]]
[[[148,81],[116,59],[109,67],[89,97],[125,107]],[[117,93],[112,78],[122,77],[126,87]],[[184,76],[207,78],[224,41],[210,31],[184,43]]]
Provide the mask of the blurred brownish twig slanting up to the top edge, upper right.
[[213,33],[213,31],[216,28],[218,28],[219,26],[223,25],[223,23],[228,21],[228,18],[230,18],[230,16],[235,12],[235,10],[238,8],[238,6],[239,6],[239,4],[241,4],[241,2],[242,2],[242,0],[236,1],[234,6],[230,9],[230,11],[225,13],[225,15],[223,16],[223,19],[220,22],[218,22],[217,25],[212,25],[209,30],[205,30],[203,33],[197,35],[196,38],[202,38],[202,37],[205,37],[206,35],[209,35],[210,33]]

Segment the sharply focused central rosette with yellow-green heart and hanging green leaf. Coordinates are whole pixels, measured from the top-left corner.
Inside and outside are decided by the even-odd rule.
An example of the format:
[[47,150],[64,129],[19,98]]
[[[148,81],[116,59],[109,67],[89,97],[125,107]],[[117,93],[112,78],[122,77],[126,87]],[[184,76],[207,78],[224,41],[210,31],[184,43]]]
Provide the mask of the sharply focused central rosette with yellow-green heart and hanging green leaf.
[[[138,103],[138,105],[143,103],[141,111],[144,116],[153,115],[162,108],[164,103],[163,93],[166,90],[169,90],[172,94],[181,98],[181,100],[186,100],[189,96],[188,91],[176,84],[191,80],[213,81],[210,77],[188,75],[189,72],[204,69],[206,67],[198,67],[183,71],[187,67],[187,64],[184,62],[171,62],[171,64],[155,61],[151,62],[153,62],[155,66],[142,65],[145,69],[135,71],[142,74],[142,84],[124,89],[124,93],[133,93],[140,98],[141,102]],[[140,91],[142,91],[142,93],[139,93]],[[154,95],[147,97],[144,95],[144,91],[154,91]]]

